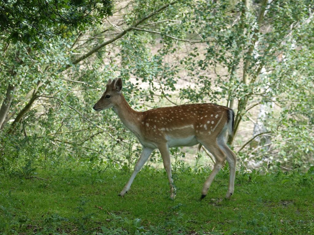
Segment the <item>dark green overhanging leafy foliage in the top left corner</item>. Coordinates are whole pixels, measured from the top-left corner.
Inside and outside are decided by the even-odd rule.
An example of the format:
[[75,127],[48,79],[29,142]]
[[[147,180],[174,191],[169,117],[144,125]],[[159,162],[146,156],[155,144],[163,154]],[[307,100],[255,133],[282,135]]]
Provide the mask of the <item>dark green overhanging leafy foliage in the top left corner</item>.
[[0,39],[42,46],[43,41],[57,36],[68,38],[73,29],[101,24],[111,10],[109,0],[5,0],[0,5]]

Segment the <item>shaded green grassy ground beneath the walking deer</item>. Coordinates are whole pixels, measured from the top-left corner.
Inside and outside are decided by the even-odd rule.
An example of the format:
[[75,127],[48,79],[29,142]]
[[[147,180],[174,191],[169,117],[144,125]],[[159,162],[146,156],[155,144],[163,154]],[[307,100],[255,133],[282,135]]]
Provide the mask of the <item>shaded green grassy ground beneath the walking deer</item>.
[[221,170],[200,201],[208,170],[177,170],[169,198],[164,170],[144,168],[126,196],[131,173],[91,167],[37,171],[37,178],[1,176],[3,234],[314,234],[313,172],[236,175]]

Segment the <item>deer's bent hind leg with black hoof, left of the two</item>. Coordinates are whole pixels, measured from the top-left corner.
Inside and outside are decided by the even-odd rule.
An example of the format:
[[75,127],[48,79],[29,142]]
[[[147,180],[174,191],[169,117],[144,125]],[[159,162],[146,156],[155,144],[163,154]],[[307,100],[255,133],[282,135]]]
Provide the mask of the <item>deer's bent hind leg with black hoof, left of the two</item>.
[[206,141],[200,141],[200,143],[210,153],[212,153],[214,155],[214,158],[216,161],[215,165],[214,165],[214,169],[212,170],[212,172],[210,173],[210,175],[208,176],[208,178],[206,179],[206,181],[203,185],[202,196],[201,196],[201,199],[203,199],[207,195],[207,192],[208,192],[210,185],[212,184],[215,176],[219,172],[222,164],[224,163],[224,161],[226,159],[226,154],[222,149],[220,149],[219,145],[216,142],[213,143],[210,140],[206,140]]

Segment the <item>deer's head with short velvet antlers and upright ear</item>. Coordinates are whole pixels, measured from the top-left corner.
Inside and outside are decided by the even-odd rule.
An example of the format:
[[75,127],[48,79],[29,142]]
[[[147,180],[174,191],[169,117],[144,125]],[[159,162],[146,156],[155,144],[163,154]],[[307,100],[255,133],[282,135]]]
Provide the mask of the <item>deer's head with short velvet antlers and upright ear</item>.
[[121,101],[122,79],[109,79],[106,85],[106,91],[101,98],[95,103],[93,109],[97,112],[103,109],[115,107]]

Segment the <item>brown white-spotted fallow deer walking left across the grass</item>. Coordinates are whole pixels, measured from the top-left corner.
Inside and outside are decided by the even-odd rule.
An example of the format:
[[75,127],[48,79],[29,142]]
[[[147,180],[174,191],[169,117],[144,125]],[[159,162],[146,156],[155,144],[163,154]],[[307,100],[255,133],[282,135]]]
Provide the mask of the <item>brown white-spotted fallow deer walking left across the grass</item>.
[[236,154],[225,143],[225,133],[233,132],[234,112],[232,109],[212,103],[186,104],[173,107],[154,108],[144,112],[133,110],[123,97],[122,79],[109,79],[106,91],[94,105],[100,110],[113,108],[122,123],[132,131],[143,145],[133,174],[119,196],[130,190],[131,184],[154,149],[159,149],[168,175],[171,198],[176,196],[176,188],[171,176],[170,147],[203,145],[216,160],[214,169],[204,183],[203,199],[221,165],[227,159],[230,167],[229,187],[226,198],[234,191],[236,174]]

